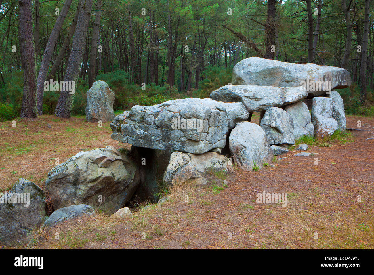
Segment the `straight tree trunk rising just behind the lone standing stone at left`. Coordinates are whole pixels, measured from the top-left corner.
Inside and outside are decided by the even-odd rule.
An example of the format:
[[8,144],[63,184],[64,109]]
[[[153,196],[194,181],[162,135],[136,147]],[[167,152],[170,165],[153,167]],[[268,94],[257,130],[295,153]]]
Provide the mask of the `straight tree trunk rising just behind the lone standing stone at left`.
[[101,6],[102,6],[101,0],[97,0],[96,1],[96,17],[95,17],[95,21],[93,22],[93,31],[92,31],[90,67],[89,67],[89,73],[88,73],[88,88],[92,87],[93,80],[95,80],[97,41],[99,39]]

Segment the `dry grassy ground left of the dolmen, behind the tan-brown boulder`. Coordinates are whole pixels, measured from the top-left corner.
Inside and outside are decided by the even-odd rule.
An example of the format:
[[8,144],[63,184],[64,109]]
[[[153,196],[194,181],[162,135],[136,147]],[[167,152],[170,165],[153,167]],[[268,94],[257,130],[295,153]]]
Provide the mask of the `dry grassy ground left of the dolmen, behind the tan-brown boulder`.
[[56,158],[62,163],[80,151],[128,145],[110,138],[110,122],[100,128],[98,123],[85,122],[83,116],[15,120],[16,127],[10,121],[0,122],[0,192],[19,178],[42,186]]

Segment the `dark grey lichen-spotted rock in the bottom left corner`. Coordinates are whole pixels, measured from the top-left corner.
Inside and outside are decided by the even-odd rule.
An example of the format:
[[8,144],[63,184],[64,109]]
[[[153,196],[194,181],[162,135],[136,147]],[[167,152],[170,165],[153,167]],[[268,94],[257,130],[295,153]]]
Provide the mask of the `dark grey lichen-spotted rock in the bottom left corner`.
[[20,178],[6,194],[0,194],[0,242],[31,241],[33,230],[46,218],[45,194],[32,181]]

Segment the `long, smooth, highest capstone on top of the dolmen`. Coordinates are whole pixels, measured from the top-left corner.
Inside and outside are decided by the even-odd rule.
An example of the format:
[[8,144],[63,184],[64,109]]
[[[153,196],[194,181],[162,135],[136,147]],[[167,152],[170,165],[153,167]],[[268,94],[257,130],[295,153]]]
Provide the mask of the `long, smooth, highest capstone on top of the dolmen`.
[[[238,62],[233,68],[232,76],[233,85],[294,87],[304,85],[305,82],[307,92],[311,96],[325,94],[325,81],[330,81],[331,89],[342,89],[351,85],[350,74],[343,68],[313,63],[287,63],[260,57],[250,57]],[[321,86],[325,86],[325,89],[320,89]]]

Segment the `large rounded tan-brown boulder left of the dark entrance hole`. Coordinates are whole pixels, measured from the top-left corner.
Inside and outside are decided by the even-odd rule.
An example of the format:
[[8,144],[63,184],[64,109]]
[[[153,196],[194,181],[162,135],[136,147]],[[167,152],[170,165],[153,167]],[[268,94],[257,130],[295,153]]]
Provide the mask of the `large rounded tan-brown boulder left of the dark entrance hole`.
[[46,180],[55,209],[89,204],[109,213],[123,207],[138,184],[137,166],[113,146],[77,153],[55,166]]

